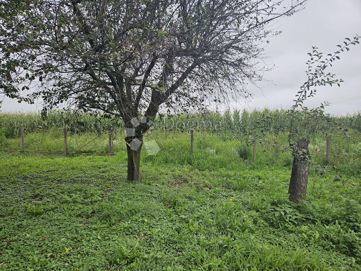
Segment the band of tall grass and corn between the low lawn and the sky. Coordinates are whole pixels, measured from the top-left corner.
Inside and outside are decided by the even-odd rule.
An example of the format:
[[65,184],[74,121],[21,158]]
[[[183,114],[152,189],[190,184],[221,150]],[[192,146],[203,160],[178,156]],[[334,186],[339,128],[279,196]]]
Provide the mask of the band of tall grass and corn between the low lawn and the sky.
[[[360,113],[335,116],[345,126],[354,127],[349,134],[360,137]],[[63,127],[68,126],[69,152],[108,152],[108,127],[113,127],[113,151],[126,158],[126,146],[121,120],[78,112],[53,111],[45,119],[39,114],[1,114],[0,149],[20,150],[20,127],[25,127],[25,150],[64,151]],[[160,115],[154,127],[144,137],[145,145],[155,139],[160,147],[157,155],[148,155],[144,147],[143,162],[156,165],[186,165],[200,170],[214,168],[239,169],[270,163],[290,166],[292,156],[283,152],[287,146],[289,117],[286,111],[253,111],[233,114]],[[326,165],[326,141],[309,125],[310,153],[315,164]],[[190,154],[190,129],[195,129],[194,152]],[[257,145],[257,162],[251,164],[253,130],[257,130],[262,145]],[[101,134],[101,135],[100,135]],[[100,135],[100,136],[99,136]],[[96,138],[96,139],[94,139]],[[94,139],[94,140],[93,140]],[[90,142],[90,143],[89,143]],[[85,147],[83,147],[86,145]],[[79,150],[80,149],[80,150]],[[334,133],[331,141],[331,162],[344,172],[361,172],[361,143],[349,141]]]

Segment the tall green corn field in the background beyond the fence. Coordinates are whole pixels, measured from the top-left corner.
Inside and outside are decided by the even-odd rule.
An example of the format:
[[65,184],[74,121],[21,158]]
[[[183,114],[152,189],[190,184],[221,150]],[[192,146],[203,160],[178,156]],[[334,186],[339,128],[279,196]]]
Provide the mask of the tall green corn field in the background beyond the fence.
[[[361,112],[353,115],[330,116],[337,126],[351,128],[361,133]],[[262,111],[233,113],[206,113],[206,114],[178,114],[157,116],[153,130],[167,132],[196,131],[216,134],[223,137],[244,138],[257,130],[260,134],[278,134],[288,132],[290,129],[290,113],[286,110],[264,109]],[[108,128],[122,130],[124,124],[121,119],[114,116],[97,115],[75,111],[51,111],[46,117],[40,113],[0,113],[0,135],[5,138],[18,138],[20,128],[25,133],[43,133],[53,128],[68,127],[74,134],[96,133],[100,134]],[[304,129],[305,134],[314,134],[317,130],[317,120],[306,119],[299,115],[297,128]]]

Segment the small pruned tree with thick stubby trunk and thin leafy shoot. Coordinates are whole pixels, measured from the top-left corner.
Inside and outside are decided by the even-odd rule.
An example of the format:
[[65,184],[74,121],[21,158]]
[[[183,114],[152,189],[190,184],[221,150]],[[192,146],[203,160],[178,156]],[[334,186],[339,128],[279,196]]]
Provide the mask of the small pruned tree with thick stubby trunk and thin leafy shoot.
[[[340,52],[345,50],[349,51],[348,46],[351,44],[359,44],[360,42],[358,39],[360,39],[360,36],[357,35],[353,38],[353,40],[346,38],[347,41],[344,42],[343,46],[338,45],[340,50],[334,52],[333,54],[328,54],[327,56],[329,57],[326,58],[323,57],[321,52],[317,51],[317,47],[312,47],[312,53],[308,53],[310,56],[310,59],[307,61],[308,70],[306,71],[308,79],[300,87],[300,91],[294,100],[295,104],[290,111],[291,125],[290,131],[288,133],[288,144],[293,155],[290,187],[288,189],[288,194],[290,194],[290,201],[299,203],[305,199],[309,163],[311,161],[308,150],[309,140],[303,138],[306,135],[304,134],[302,127],[300,127],[300,129],[297,127],[297,117],[306,117],[315,120],[315,125],[317,126],[315,132],[317,130],[321,130],[326,133],[330,132],[333,125],[330,123],[330,117],[325,115],[325,112],[323,111],[327,103],[325,102],[325,104],[321,104],[320,107],[315,109],[309,109],[305,107],[303,103],[307,98],[313,97],[316,93],[316,89],[313,89],[313,87],[325,85],[332,86],[335,84],[340,86],[340,83],[343,82],[342,79],[334,79],[335,74],[326,74],[325,70],[328,68],[328,66],[332,66],[333,61],[340,59],[338,56]],[[309,122],[307,124],[309,124]]]

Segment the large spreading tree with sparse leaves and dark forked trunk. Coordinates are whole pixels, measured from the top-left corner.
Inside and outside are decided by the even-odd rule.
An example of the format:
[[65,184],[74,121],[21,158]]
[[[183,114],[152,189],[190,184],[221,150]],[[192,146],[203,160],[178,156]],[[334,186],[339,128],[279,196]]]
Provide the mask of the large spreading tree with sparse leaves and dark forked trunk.
[[20,97],[36,84],[26,99],[43,98],[44,113],[71,102],[121,117],[127,178],[139,181],[143,135],[160,107],[247,95],[279,33],[271,23],[305,2],[12,0],[1,6],[0,88]]

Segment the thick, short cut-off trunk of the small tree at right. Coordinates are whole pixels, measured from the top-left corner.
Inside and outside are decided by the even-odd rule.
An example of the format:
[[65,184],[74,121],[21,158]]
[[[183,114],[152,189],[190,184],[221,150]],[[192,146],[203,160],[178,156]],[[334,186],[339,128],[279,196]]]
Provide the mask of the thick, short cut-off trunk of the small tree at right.
[[288,194],[290,194],[290,201],[296,203],[306,198],[308,172],[310,169],[310,164],[306,161],[309,155],[308,144],[309,140],[301,139],[297,144],[296,155],[293,158]]

